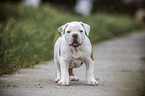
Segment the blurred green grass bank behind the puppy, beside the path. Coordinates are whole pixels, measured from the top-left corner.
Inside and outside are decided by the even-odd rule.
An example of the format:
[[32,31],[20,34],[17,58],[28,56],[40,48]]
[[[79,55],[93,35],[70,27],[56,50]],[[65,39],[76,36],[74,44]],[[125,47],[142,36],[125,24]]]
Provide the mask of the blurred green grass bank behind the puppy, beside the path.
[[66,22],[88,23],[93,44],[144,26],[133,18],[106,13],[82,17],[49,6],[0,6],[0,75],[51,60],[57,28]]

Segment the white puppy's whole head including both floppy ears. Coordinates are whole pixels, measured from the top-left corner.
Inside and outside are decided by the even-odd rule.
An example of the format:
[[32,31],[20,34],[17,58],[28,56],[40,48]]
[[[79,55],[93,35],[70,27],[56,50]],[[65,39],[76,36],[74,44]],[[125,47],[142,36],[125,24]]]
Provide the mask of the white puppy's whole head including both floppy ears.
[[85,35],[89,35],[90,26],[82,22],[70,22],[58,28],[61,36],[64,36],[69,45],[77,48],[83,43]]

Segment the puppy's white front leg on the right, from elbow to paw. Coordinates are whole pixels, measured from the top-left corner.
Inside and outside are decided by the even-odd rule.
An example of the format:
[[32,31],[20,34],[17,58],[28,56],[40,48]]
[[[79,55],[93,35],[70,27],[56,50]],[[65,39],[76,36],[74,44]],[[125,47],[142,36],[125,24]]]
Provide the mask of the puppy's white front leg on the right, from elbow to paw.
[[85,61],[85,64],[87,84],[97,86],[98,82],[94,78],[94,61],[91,58],[88,58]]

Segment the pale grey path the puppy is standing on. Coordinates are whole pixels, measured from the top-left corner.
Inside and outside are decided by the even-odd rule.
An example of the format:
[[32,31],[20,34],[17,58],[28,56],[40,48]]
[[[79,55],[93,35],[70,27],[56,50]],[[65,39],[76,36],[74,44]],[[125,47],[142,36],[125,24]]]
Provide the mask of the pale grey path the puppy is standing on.
[[85,66],[75,69],[80,81],[57,86],[54,62],[0,77],[0,96],[145,96],[145,30],[94,45],[95,78],[85,82]]

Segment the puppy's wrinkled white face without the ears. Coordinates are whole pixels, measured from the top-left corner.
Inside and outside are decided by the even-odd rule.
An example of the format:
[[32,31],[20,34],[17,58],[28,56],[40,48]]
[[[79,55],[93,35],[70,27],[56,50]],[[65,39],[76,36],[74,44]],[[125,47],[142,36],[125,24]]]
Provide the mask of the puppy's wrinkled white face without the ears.
[[65,38],[70,46],[79,47],[85,37],[85,29],[79,22],[71,22],[65,28]]

